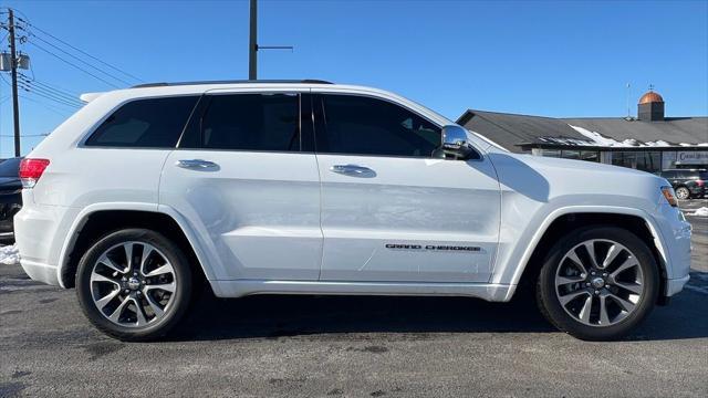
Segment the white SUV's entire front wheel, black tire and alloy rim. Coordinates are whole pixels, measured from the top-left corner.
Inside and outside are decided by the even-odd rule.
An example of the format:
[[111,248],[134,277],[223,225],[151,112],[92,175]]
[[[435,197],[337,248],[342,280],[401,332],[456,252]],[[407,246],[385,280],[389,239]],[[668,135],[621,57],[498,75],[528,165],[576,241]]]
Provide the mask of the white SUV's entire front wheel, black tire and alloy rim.
[[[598,268],[592,266],[587,243]],[[627,335],[646,318],[658,294],[659,272],[652,251],[635,234],[615,227],[589,227],[568,234],[549,251],[537,282],[541,313],[560,331],[585,341]]]

